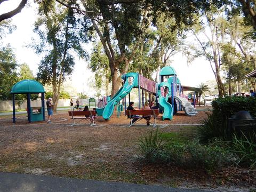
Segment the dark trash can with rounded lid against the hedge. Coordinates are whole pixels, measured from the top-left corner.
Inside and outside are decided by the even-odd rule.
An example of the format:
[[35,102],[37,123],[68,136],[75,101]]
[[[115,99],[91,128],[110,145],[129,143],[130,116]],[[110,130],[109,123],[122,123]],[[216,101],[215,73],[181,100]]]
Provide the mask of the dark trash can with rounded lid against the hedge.
[[249,111],[238,111],[228,118],[229,137],[235,133],[237,137],[252,138],[256,134],[256,118],[252,117]]

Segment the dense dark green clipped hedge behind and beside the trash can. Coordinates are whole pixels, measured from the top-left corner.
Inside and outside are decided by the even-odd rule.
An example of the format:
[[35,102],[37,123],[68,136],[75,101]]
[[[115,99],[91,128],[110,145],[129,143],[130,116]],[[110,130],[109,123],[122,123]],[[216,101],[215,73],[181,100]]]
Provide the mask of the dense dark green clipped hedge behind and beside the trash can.
[[203,125],[197,129],[201,141],[207,142],[212,138],[230,139],[228,117],[240,110],[247,110],[256,117],[256,98],[254,97],[225,97],[212,101],[212,114],[203,120]]

